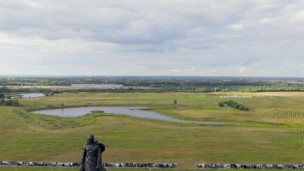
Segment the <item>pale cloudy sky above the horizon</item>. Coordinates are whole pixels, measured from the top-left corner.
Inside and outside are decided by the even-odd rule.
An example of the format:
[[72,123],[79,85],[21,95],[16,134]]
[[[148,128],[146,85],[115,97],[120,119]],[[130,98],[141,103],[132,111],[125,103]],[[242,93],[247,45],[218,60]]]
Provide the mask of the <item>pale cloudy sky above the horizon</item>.
[[0,0],[0,74],[304,76],[304,0]]

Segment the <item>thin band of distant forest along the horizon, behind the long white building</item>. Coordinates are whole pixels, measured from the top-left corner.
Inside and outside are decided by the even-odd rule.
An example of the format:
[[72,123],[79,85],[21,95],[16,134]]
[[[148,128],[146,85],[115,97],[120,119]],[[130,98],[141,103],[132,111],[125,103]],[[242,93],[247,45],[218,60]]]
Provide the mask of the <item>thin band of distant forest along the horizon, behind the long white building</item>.
[[[171,86],[194,86],[194,87],[218,87],[218,86],[270,86],[277,84],[290,85],[290,83],[302,83],[303,80],[269,80],[269,79],[127,79],[117,77],[0,77],[1,85],[30,85],[30,86],[69,86],[70,84],[123,84],[124,86],[150,86],[163,87]],[[289,84],[288,84],[289,83]]]

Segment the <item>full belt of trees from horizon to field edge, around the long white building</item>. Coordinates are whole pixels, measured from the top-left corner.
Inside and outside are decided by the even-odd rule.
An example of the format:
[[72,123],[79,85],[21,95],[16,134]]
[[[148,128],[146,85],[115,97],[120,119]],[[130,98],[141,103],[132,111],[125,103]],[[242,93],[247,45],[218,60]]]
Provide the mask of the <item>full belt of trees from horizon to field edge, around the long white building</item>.
[[[127,79],[111,77],[0,77],[0,98],[5,92],[47,92],[54,88],[6,88],[6,85],[32,86],[70,86],[70,84],[123,84],[123,88],[79,88],[59,89],[60,92],[266,92],[266,91],[304,91],[303,80],[269,80],[269,79]],[[54,92],[55,93],[55,92]]]

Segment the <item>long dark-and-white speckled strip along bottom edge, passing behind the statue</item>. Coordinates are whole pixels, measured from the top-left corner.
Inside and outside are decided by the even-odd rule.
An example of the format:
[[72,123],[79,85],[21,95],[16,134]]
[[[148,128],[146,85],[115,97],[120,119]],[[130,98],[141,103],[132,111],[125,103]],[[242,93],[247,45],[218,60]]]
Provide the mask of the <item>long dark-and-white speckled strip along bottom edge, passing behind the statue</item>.
[[[176,168],[175,163],[102,163],[104,167],[160,167]],[[78,162],[32,162],[32,161],[0,161],[0,165],[19,165],[19,166],[52,166],[52,167],[79,167]]]

